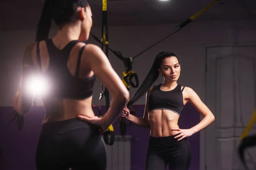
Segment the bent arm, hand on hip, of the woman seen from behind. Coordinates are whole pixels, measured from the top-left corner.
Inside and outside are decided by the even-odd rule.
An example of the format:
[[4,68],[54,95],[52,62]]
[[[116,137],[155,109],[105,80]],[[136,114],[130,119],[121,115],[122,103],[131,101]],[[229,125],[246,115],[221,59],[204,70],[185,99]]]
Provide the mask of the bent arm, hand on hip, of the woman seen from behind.
[[[105,53],[97,45],[87,44],[84,48],[83,59],[84,64],[90,65],[91,70],[108,88],[112,95],[110,108],[102,117],[102,122],[99,122],[101,119],[95,122],[96,124],[101,124],[102,129],[105,130],[120,116],[128,102],[130,94],[120,77],[113,70]],[[82,117],[80,118],[82,119]],[[84,120],[92,121],[85,117]],[[95,121],[95,119],[93,119],[93,121]]]

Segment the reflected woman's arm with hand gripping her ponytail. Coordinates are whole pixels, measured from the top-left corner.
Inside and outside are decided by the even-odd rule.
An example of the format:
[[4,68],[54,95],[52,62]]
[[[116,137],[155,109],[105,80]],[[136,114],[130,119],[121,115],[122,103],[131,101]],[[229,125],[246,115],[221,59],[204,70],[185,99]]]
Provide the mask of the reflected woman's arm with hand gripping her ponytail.
[[[145,104],[143,118],[133,116],[130,113],[128,113],[128,116],[125,116],[127,113],[123,113],[123,116],[125,116],[126,119],[128,119],[129,121],[131,121],[132,123],[134,123],[137,126],[150,128],[150,125],[149,125],[149,122],[148,122],[148,96],[149,96],[150,92],[152,91],[152,89],[153,89],[153,87],[151,87],[147,91],[147,94],[146,94],[146,104]],[[128,111],[129,110],[127,109],[126,112],[128,112]]]

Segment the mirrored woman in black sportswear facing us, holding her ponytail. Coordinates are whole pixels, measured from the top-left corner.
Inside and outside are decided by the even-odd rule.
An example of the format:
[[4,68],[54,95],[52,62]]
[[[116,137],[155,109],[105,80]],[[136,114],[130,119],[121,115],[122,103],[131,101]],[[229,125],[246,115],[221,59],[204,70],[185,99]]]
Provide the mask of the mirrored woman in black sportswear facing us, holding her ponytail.
[[[159,74],[162,84],[152,86]],[[177,84],[180,77],[180,62],[171,52],[161,52],[144,79],[142,85],[128,102],[134,104],[146,93],[143,118],[130,114],[124,108],[122,117],[140,127],[150,128],[146,170],[188,170],[191,160],[191,148],[186,137],[209,126],[215,119],[212,112],[189,87]],[[177,125],[180,113],[186,103],[193,105],[204,119],[190,129],[180,129]]]

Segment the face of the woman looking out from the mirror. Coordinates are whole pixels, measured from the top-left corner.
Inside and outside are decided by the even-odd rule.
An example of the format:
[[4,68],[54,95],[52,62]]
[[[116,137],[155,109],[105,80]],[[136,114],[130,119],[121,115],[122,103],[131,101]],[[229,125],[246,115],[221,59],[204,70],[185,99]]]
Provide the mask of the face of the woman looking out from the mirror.
[[175,82],[180,77],[180,64],[177,57],[166,57],[161,63],[161,68],[158,68],[166,81]]

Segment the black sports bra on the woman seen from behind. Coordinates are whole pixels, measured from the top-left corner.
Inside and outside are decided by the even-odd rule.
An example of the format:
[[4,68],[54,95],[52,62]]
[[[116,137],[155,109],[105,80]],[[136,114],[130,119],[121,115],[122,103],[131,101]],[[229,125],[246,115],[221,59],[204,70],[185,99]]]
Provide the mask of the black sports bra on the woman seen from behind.
[[[75,76],[67,68],[70,51],[78,42],[78,40],[70,41],[62,50],[59,50],[53,44],[52,39],[46,40],[49,53],[49,68],[44,73],[44,77],[47,79],[47,85],[49,86],[49,93],[47,94],[50,96],[63,99],[86,99],[93,95],[95,75],[86,79],[79,78],[81,54],[85,45],[79,51]],[[37,44],[37,59],[41,66],[39,42]]]

